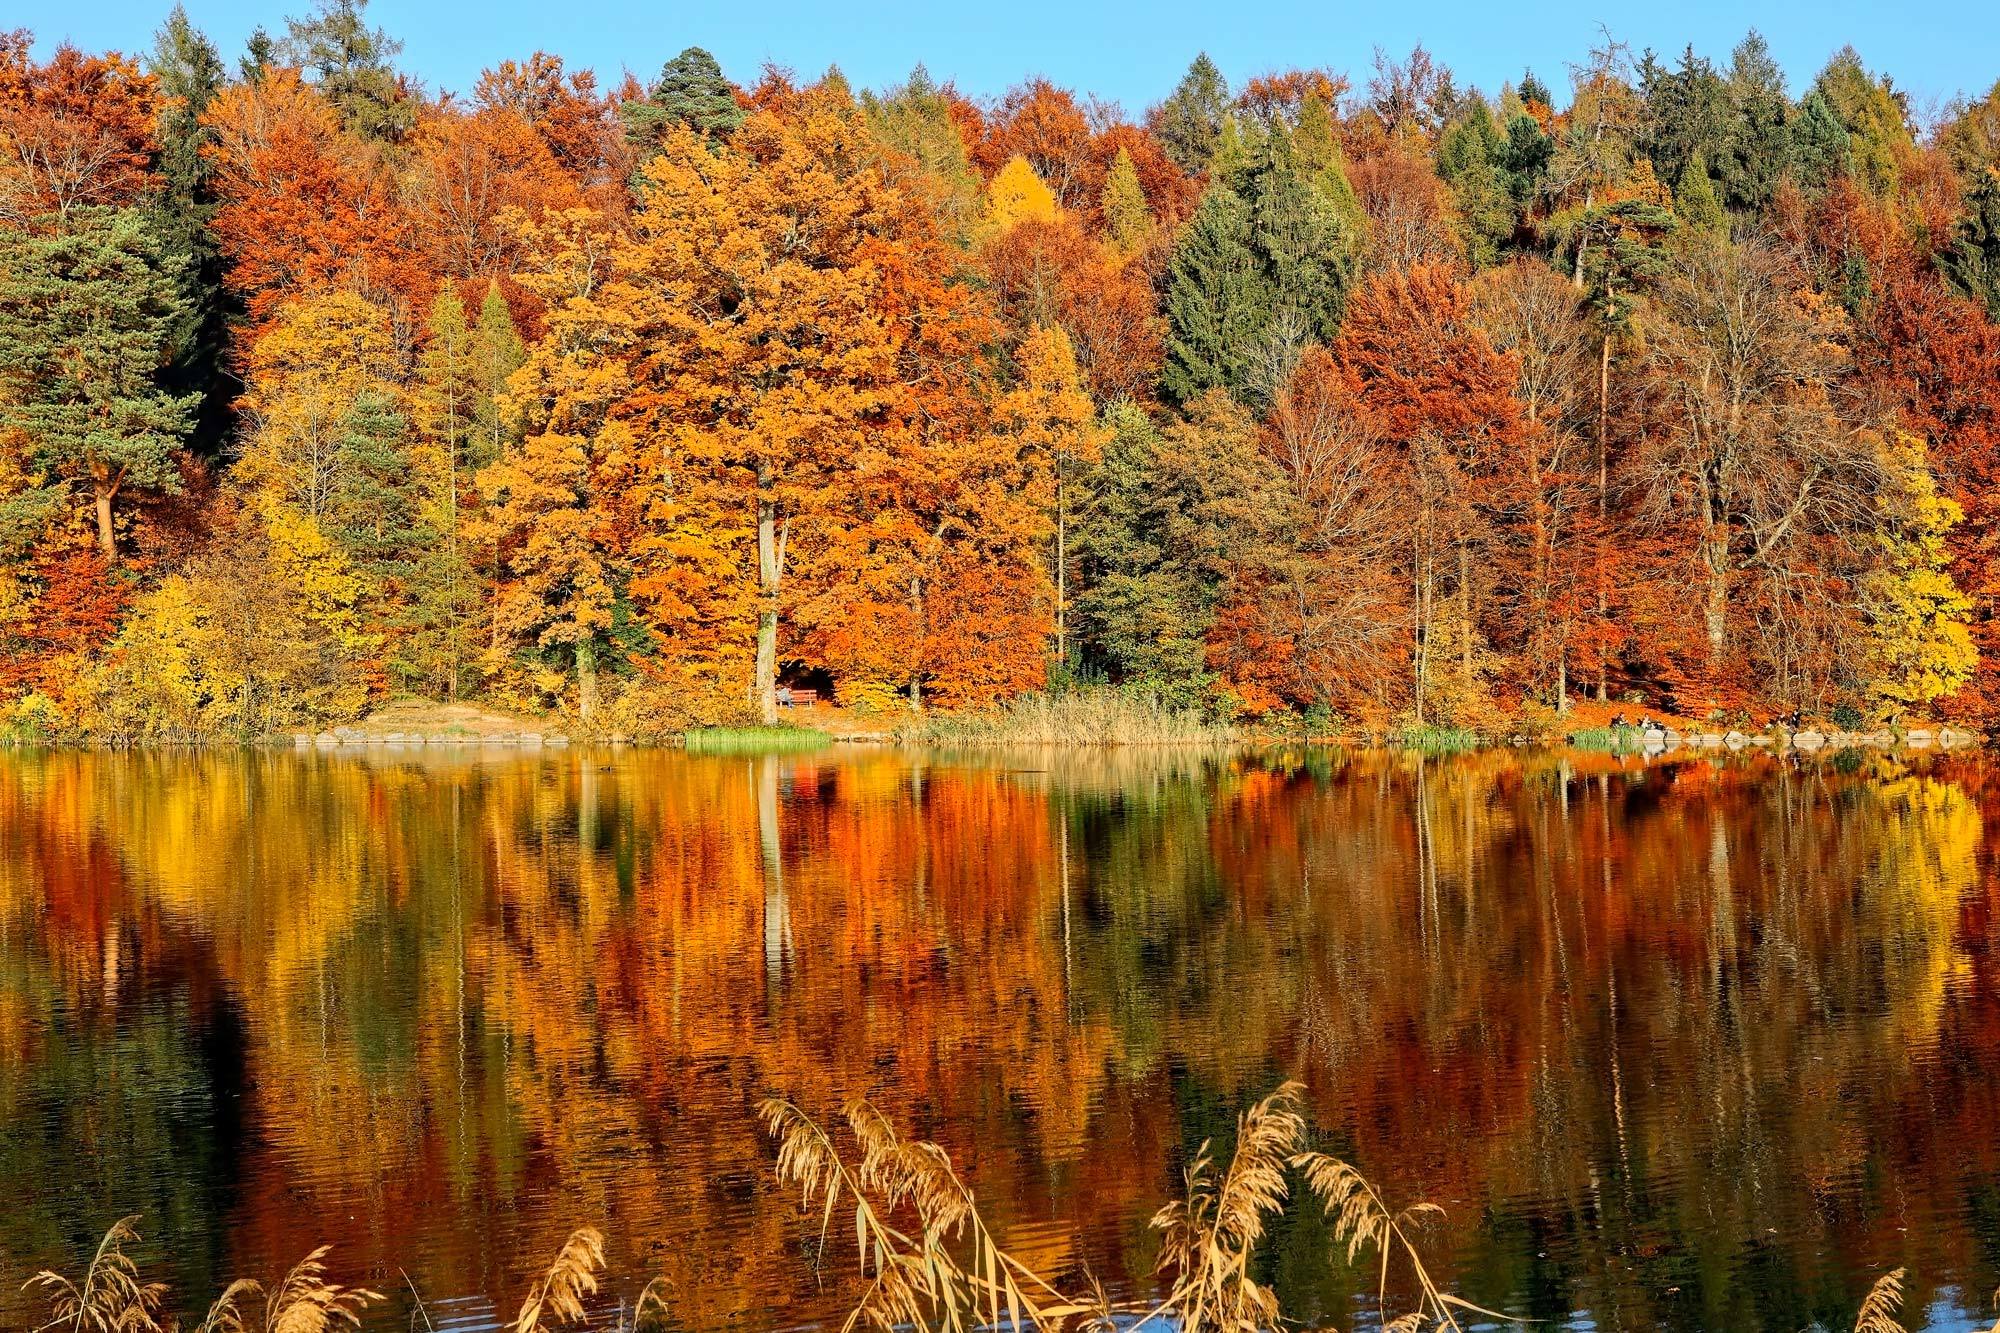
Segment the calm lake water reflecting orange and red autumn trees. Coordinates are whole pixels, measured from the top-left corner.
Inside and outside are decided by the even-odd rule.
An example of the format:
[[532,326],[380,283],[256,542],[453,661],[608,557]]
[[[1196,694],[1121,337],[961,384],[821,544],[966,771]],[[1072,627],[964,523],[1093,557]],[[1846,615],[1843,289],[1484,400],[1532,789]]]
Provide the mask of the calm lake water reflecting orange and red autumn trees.
[[[664,1273],[684,1327],[838,1327],[772,1093],[872,1097],[1016,1255],[1144,1295],[1146,1219],[1282,1077],[1390,1203],[1448,1209],[1432,1271],[1480,1305],[1846,1329],[1906,1265],[1912,1327],[1984,1327],[1996,779],[0,755],[0,1327],[122,1213],[188,1313],[332,1243],[390,1295],[370,1327],[412,1285],[440,1329],[512,1317],[596,1225],[608,1291]],[[1268,1265],[1292,1317],[1372,1323],[1308,1209]]]

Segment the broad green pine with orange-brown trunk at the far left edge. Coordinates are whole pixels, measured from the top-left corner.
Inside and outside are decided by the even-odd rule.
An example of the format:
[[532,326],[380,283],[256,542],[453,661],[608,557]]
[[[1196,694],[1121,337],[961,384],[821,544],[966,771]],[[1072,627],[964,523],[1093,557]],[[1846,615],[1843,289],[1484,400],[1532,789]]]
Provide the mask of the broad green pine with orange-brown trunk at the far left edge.
[[46,236],[0,226],[0,432],[90,492],[108,560],[118,496],[180,488],[196,398],[168,392],[160,370],[184,318],[180,268],[138,210],[76,214]]

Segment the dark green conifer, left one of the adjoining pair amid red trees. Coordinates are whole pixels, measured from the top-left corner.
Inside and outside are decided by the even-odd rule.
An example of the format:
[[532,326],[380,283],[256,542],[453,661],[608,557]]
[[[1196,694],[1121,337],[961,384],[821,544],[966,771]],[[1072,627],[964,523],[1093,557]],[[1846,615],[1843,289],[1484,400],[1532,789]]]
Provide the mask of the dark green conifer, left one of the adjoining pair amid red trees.
[[1174,402],[1244,382],[1270,324],[1270,284],[1250,242],[1250,206],[1210,186],[1166,268],[1166,366]]

